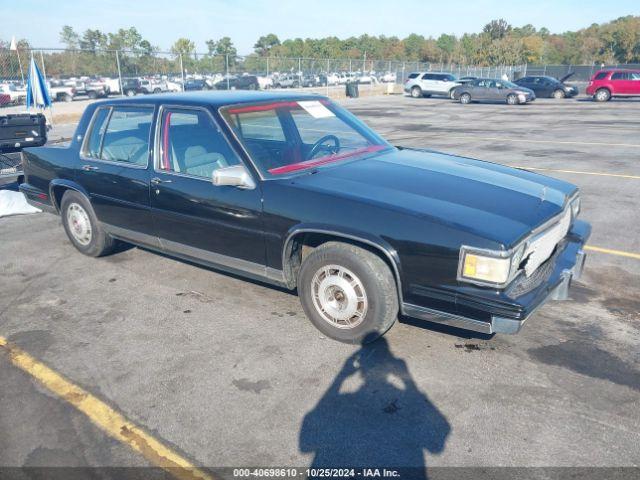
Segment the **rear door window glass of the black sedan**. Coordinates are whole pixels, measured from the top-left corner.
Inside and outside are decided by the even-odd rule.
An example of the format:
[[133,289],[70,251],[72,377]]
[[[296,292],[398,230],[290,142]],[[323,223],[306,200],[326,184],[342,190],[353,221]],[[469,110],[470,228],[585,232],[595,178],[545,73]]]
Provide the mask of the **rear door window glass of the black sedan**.
[[83,155],[95,160],[147,165],[151,107],[105,107],[94,113]]

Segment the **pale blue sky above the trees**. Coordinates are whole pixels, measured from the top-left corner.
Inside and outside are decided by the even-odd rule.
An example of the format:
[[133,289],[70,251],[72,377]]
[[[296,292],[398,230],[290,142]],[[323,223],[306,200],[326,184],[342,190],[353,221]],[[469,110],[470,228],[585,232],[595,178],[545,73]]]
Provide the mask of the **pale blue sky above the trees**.
[[[3,7],[4,4],[4,7]],[[0,39],[27,38],[34,47],[62,46],[63,25],[77,32],[135,26],[152,45],[168,51],[179,37],[206,52],[205,41],[231,37],[239,54],[253,51],[261,35],[286,38],[346,38],[410,33],[438,37],[478,32],[496,18],[513,26],[532,24],[553,33],[577,30],[625,15],[640,15],[639,0],[482,0],[446,2],[393,0],[0,0],[11,12]]]

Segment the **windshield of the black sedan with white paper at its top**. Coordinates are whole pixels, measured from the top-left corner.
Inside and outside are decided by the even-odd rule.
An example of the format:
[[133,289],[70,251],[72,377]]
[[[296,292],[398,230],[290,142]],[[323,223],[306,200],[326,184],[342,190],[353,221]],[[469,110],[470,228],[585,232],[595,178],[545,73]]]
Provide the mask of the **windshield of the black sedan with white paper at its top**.
[[242,104],[221,114],[266,178],[393,148],[326,99]]

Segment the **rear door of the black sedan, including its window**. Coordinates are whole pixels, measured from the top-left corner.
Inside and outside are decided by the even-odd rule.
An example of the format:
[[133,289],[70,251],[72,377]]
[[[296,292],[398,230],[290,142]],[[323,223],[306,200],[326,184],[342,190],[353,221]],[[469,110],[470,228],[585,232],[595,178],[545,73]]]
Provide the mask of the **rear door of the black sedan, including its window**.
[[108,231],[157,246],[147,169],[153,115],[153,106],[96,109],[80,151],[76,179]]

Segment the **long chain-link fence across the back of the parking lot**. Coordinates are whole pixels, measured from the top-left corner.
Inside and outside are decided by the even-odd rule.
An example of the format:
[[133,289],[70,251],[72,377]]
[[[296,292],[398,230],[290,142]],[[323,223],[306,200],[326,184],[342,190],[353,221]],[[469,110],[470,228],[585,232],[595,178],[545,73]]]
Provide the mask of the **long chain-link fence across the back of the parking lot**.
[[[601,65],[475,66],[371,58],[281,58],[258,55],[179,54],[116,50],[0,49],[0,93],[4,103],[24,101],[29,61],[34,58],[56,94],[55,100],[82,96],[131,95],[194,89],[319,88],[327,95],[348,82],[403,83],[411,72],[448,72],[462,77],[517,79],[524,75],[588,81]],[[613,65],[609,66],[613,67]],[[615,67],[640,68],[639,65]],[[71,93],[65,88],[73,88]],[[324,89],[324,90],[322,90]],[[376,91],[382,91],[378,89]],[[385,89],[386,91],[386,89]],[[7,100],[8,99],[8,100]]]

